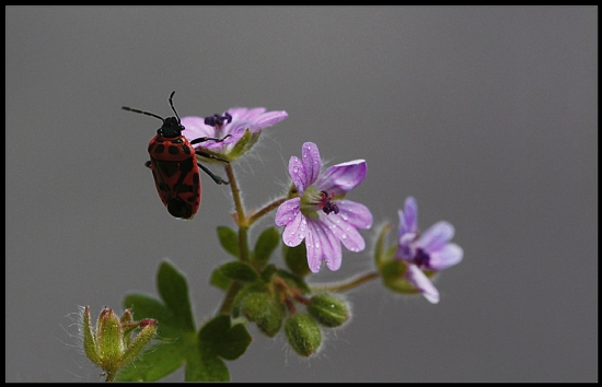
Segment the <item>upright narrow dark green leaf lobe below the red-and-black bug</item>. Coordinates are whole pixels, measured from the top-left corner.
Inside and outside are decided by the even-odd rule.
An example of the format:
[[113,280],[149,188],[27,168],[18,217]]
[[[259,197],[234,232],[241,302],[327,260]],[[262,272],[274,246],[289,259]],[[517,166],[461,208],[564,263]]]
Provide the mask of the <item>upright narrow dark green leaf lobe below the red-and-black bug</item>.
[[157,289],[165,305],[177,317],[185,330],[195,330],[190,298],[188,296],[188,282],[186,278],[167,261],[161,262],[157,273]]

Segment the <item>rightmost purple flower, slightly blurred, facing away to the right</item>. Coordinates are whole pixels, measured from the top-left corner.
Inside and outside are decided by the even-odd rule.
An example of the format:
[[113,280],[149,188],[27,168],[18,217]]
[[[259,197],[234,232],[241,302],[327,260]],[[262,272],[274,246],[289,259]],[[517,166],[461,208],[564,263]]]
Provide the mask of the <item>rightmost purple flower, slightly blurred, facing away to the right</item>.
[[400,210],[400,239],[395,258],[407,262],[405,279],[418,289],[431,303],[439,302],[439,292],[422,270],[439,271],[462,260],[460,246],[449,243],[453,237],[453,226],[439,222],[420,234],[418,232],[418,204],[409,197],[404,211]]

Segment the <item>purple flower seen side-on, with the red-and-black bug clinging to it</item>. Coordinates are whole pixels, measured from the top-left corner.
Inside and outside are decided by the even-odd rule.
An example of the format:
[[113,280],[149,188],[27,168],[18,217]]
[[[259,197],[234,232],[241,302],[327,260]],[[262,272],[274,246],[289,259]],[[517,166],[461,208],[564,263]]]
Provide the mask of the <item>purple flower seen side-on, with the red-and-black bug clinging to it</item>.
[[[288,117],[287,112],[267,112],[265,107],[232,107],[223,115],[209,117],[184,117],[182,125],[188,140],[202,137],[223,139],[223,141],[204,141],[194,144],[220,157],[233,160],[257,141],[262,129],[276,125]],[[238,145],[238,146],[236,146]]]

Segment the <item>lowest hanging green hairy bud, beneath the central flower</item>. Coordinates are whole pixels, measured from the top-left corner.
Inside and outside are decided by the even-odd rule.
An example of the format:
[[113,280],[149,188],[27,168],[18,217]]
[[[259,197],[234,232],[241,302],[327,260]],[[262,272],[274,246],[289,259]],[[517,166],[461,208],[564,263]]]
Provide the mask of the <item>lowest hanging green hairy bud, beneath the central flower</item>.
[[292,349],[301,356],[314,354],[322,342],[322,331],[317,322],[306,313],[291,316],[285,324],[285,332]]

